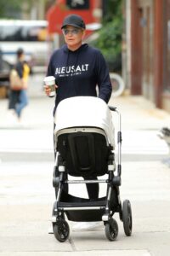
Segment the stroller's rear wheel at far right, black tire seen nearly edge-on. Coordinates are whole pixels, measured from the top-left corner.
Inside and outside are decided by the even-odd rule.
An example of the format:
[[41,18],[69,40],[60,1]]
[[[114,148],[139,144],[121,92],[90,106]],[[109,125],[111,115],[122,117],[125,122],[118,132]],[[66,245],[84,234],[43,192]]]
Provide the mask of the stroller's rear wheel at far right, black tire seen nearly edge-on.
[[133,217],[130,201],[125,200],[122,204],[122,222],[126,236],[131,236],[133,230]]

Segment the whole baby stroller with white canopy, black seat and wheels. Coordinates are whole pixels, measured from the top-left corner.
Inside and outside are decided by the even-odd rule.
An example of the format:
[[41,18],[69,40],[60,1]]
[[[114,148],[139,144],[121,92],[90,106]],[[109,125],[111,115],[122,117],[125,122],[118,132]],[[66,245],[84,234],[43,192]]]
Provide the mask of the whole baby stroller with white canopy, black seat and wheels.
[[[120,200],[121,186],[121,115],[117,133],[118,154],[115,162],[114,127],[111,111],[101,99],[92,96],[77,96],[59,102],[54,122],[55,165],[53,186],[56,192],[52,213],[54,236],[58,241],[66,241],[70,235],[70,221],[103,221],[105,236],[116,240],[118,225],[112,218],[119,213],[126,236],[132,233],[132,210],[130,201]],[[68,179],[70,176],[84,177],[84,180]],[[88,177],[106,176],[106,179]],[[74,196],[66,186],[74,183],[105,183],[105,196],[96,200]],[[77,195],[79,192],[77,191]]]

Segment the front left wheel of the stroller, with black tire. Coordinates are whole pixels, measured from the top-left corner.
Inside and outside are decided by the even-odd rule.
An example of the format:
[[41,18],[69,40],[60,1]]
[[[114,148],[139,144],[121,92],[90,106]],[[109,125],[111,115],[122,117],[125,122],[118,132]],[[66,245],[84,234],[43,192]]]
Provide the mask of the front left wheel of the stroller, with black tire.
[[58,220],[54,224],[54,236],[55,236],[55,238],[60,242],[64,242],[68,239],[69,235],[70,235],[69,224],[64,219],[63,220]]

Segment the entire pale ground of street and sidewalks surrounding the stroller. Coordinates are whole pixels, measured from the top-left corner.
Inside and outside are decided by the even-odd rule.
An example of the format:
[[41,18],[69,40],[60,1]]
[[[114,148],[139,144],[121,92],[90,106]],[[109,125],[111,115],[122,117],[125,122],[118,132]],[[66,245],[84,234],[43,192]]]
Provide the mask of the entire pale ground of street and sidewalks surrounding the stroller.
[[[157,132],[170,125],[170,114],[142,96],[111,98],[110,104],[122,114],[120,191],[121,200],[132,204],[133,235],[125,236],[115,215],[116,241],[108,241],[104,229],[71,230],[69,240],[59,243],[48,235],[54,203],[54,99],[43,95],[42,76],[31,79],[29,96],[22,125],[8,123],[8,100],[0,100],[0,256],[168,256],[170,168],[164,162],[167,145]],[[117,128],[116,122],[115,116]],[[71,189],[77,194],[77,189]],[[105,195],[105,188],[101,187],[100,195]]]

